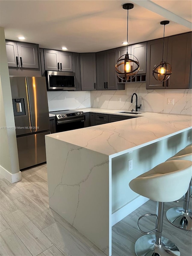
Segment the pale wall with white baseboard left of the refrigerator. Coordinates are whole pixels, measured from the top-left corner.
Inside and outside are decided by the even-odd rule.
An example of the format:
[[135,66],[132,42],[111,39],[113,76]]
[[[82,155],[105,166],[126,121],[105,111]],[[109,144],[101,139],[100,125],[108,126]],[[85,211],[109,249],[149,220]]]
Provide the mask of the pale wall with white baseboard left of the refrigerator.
[[[15,122],[7,65],[4,28],[0,27],[0,173],[10,182],[21,180]],[[8,128],[7,128],[8,127]]]

